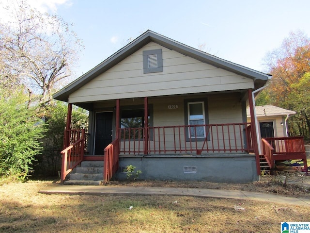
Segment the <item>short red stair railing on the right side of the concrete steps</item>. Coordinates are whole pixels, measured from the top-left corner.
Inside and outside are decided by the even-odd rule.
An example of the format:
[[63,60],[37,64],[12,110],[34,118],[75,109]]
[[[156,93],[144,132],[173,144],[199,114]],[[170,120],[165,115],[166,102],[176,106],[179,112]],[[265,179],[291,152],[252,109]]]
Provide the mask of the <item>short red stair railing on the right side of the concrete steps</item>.
[[103,181],[107,183],[118,170],[119,140],[115,139],[104,150]]

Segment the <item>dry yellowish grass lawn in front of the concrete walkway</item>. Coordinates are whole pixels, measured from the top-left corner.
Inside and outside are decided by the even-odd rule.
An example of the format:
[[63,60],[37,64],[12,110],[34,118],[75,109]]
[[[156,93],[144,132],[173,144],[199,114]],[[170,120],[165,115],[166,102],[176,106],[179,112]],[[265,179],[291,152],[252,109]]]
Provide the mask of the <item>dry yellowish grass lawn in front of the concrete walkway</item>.
[[[0,232],[265,233],[279,232],[281,221],[310,219],[310,207],[269,202],[38,193],[48,185],[51,182],[0,186]],[[236,211],[234,205],[245,210]]]

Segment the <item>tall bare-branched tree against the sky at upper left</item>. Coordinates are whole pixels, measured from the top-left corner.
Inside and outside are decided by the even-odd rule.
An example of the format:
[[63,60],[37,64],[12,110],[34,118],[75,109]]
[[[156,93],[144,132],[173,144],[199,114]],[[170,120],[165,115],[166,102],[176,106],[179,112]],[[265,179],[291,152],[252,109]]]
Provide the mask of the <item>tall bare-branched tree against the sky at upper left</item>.
[[40,13],[26,0],[12,3],[5,7],[11,19],[0,22],[0,85],[22,87],[42,108],[69,81],[81,41],[61,17]]

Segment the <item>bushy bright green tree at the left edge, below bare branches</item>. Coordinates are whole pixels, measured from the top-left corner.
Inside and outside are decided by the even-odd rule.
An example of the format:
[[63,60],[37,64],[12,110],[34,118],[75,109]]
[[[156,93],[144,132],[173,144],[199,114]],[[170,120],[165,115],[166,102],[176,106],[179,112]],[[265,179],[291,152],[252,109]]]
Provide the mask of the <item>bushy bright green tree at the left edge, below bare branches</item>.
[[44,123],[21,91],[0,89],[0,182],[25,179],[40,154]]

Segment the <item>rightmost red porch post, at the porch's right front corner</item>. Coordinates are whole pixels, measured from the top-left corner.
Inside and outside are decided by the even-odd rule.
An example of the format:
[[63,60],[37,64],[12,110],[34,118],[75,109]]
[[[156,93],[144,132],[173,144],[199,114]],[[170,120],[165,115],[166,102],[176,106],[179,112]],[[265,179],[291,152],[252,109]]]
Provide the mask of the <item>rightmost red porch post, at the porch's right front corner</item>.
[[250,108],[250,115],[251,115],[251,133],[252,133],[252,144],[255,153],[255,160],[256,160],[256,170],[257,175],[261,174],[261,166],[260,166],[260,155],[258,150],[258,141],[257,141],[257,133],[256,133],[256,117],[254,115],[254,101],[253,101],[252,89],[248,89],[248,103]]

